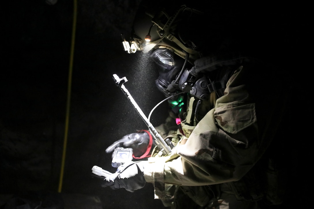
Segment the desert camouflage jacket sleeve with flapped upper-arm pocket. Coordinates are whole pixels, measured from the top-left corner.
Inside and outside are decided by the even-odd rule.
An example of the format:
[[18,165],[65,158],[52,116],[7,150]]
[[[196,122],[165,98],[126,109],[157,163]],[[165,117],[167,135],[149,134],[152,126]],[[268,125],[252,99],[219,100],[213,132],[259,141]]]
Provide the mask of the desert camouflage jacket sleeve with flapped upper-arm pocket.
[[144,177],[154,184],[155,199],[165,197],[165,184],[197,186],[239,180],[261,157],[256,104],[246,79],[245,68],[237,69],[225,95],[190,137],[183,137],[171,155],[149,158]]

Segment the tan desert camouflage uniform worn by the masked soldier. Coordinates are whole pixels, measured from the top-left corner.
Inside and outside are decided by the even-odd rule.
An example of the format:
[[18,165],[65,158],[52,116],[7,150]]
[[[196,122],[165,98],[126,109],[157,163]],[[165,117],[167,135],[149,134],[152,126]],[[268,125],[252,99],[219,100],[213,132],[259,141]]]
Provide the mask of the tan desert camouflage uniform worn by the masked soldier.
[[[216,63],[211,67],[228,65],[236,70],[223,96],[216,99],[211,94],[202,120],[195,126],[183,120],[185,136],[174,130],[167,136],[167,125],[156,128],[176,144],[166,156],[155,147],[144,168],[145,180],[154,184],[155,199],[165,206],[255,208],[256,201],[265,196],[257,181],[264,172],[255,171],[259,162],[263,164],[284,114],[284,81],[277,69],[257,60]],[[167,120],[169,124],[171,119]]]

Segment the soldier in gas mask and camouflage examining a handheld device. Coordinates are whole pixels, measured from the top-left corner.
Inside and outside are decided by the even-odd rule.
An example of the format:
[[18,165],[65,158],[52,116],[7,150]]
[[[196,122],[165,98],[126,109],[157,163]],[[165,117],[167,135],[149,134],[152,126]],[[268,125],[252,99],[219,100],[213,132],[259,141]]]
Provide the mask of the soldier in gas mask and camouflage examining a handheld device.
[[171,108],[156,130],[174,147],[165,154],[147,131],[126,135],[106,152],[131,147],[144,160],[121,165],[102,186],[133,192],[152,183],[155,199],[171,208],[279,205],[285,156],[273,150],[286,125],[289,81],[263,51],[265,15],[239,2],[180,3],[143,1],[123,42],[157,64],[155,83]]

